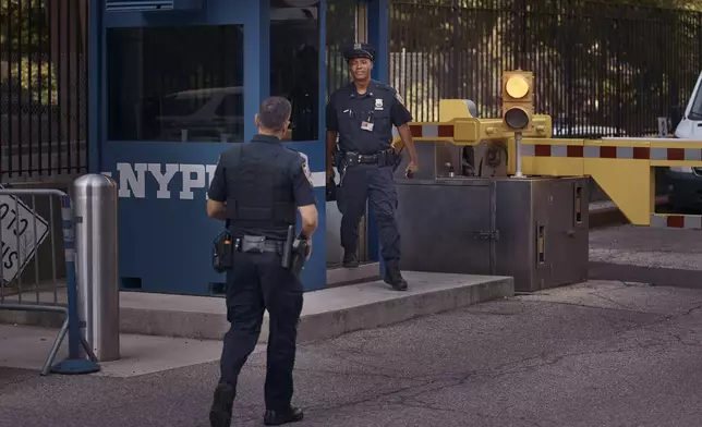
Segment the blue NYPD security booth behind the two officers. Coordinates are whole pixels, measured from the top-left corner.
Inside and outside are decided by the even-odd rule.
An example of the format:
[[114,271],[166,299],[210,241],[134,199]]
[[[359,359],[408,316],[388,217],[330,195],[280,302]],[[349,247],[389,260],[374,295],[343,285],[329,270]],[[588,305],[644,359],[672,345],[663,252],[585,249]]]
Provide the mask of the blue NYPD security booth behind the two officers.
[[206,190],[269,95],[293,102],[287,144],[308,158],[319,210],[303,284],[325,288],[325,95],[348,81],[338,46],[361,33],[387,81],[388,0],[92,0],[89,13],[90,168],[119,184],[121,288],[221,292]]

